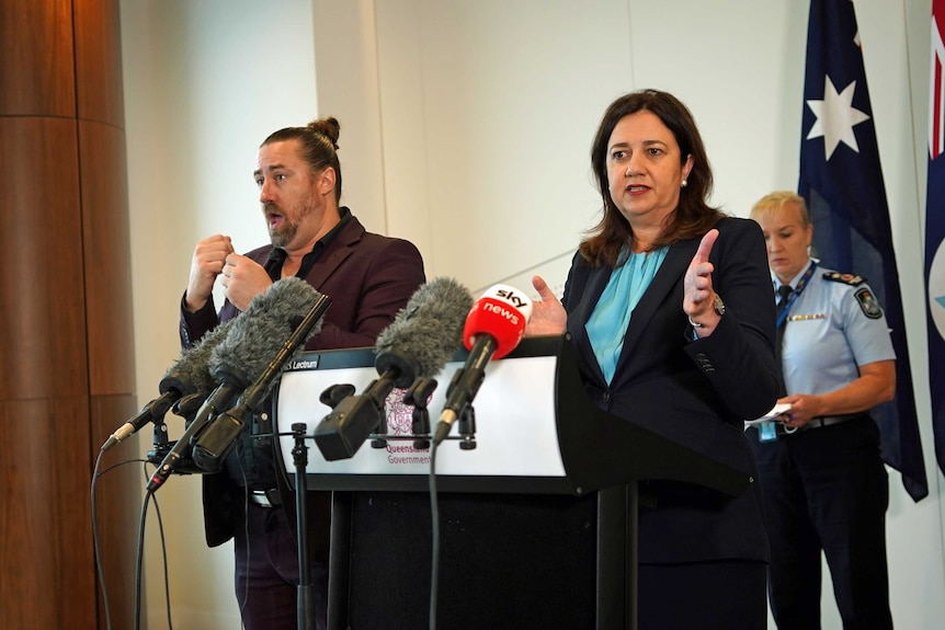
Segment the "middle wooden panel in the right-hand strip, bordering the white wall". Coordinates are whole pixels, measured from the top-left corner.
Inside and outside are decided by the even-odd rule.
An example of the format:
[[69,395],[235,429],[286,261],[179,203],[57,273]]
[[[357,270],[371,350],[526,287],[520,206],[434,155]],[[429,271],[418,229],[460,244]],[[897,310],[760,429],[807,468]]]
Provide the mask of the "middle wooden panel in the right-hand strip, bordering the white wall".
[[132,251],[125,135],[79,122],[89,391],[135,391]]

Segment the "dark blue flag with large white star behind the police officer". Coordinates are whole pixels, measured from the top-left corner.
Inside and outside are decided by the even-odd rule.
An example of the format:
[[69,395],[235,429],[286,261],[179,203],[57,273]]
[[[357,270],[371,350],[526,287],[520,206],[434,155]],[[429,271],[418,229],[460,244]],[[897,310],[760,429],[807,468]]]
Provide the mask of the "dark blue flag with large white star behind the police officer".
[[896,398],[872,415],[883,435],[883,459],[919,501],[929,483],[886,185],[850,0],[810,1],[802,110],[798,194],[810,209],[815,255],[826,267],[865,276],[884,306],[896,350]]

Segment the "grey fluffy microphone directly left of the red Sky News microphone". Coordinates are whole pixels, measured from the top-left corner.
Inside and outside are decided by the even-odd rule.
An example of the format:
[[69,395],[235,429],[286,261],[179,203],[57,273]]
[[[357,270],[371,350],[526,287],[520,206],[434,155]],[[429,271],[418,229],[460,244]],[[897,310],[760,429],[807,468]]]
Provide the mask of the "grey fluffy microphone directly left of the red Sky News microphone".
[[357,453],[384,422],[384,401],[391,389],[440,374],[463,340],[463,321],[471,305],[469,290],[451,278],[435,278],[410,296],[377,336],[374,366],[379,378],[361,394],[339,401],[315,428],[315,443],[326,460]]

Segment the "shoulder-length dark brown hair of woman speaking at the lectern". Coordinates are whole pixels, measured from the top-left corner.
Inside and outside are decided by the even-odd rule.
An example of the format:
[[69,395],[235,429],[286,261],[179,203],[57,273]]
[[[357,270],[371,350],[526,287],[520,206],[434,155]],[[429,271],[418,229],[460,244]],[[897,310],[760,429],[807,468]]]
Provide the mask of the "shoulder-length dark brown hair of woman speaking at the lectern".
[[719,209],[706,203],[713,186],[711,169],[702,136],[688,108],[668,92],[641,90],[625,94],[607,107],[591,147],[591,164],[604,202],[604,216],[601,222],[588,231],[588,238],[581,242],[580,252],[585,261],[595,266],[616,266],[620,251],[634,243],[629,222],[611,198],[607,144],[614,127],[624,116],[641,111],[656,114],[673,134],[680,146],[681,164],[685,164],[688,156],[693,158],[692,170],[686,176],[687,185],[680,190],[679,206],[667,216],[663,230],[651,247],[699,238],[724,216]]

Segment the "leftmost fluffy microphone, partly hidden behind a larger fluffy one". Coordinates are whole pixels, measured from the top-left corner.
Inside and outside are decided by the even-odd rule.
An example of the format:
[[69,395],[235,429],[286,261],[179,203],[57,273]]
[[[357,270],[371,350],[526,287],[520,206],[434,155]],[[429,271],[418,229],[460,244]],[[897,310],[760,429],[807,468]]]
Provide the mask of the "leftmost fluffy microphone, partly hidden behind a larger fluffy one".
[[182,398],[189,396],[205,398],[215,386],[208,368],[210,354],[228,333],[229,322],[218,325],[205,334],[197,345],[183,351],[181,357],[158,385],[161,396],[143,406],[136,416],[119,426],[102,445],[102,451],[109,450],[126,437],[139,432],[149,422],[161,420]]

